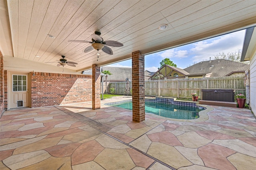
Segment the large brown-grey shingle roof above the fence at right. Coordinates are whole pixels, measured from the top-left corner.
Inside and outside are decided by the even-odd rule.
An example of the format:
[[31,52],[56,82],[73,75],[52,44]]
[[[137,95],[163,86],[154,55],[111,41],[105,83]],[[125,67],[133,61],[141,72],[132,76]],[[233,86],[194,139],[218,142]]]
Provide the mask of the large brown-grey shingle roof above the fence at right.
[[250,69],[249,64],[238,63],[225,59],[217,59],[211,61],[202,61],[185,68],[184,70],[190,74],[208,74],[210,77],[224,77],[230,75],[231,72],[244,72]]

